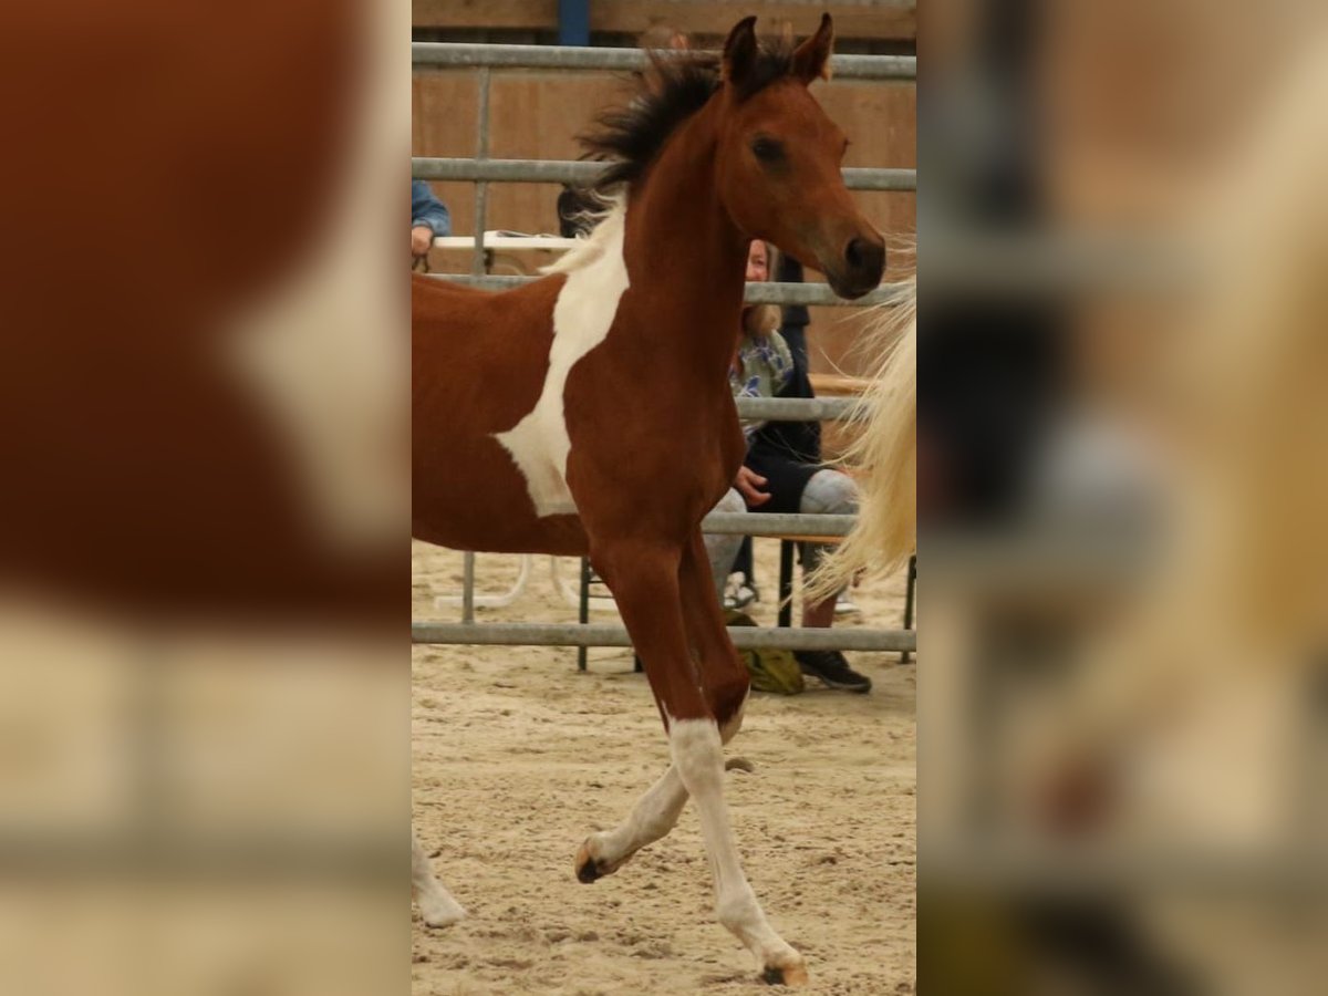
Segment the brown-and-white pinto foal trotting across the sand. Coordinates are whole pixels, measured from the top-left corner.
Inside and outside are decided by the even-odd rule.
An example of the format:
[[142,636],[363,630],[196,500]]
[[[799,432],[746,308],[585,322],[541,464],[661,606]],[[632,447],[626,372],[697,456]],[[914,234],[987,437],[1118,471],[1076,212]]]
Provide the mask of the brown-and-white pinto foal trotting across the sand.
[[[746,880],[722,748],[748,672],[724,625],[701,518],[744,442],[728,386],[746,247],[760,238],[857,299],[880,234],[839,167],[843,133],[809,93],[833,23],[794,48],[740,21],[722,53],[652,56],[640,90],[583,138],[616,199],[543,279],[491,293],[412,276],[413,533],[459,550],[588,555],[640,656],[672,764],[615,830],[579,847],[583,883],[618,871],[696,799],[714,912],[774,984],[806,965]],[[426,915],[457,915],[416,843]],[[450,896],[448,896],[450,899]]]

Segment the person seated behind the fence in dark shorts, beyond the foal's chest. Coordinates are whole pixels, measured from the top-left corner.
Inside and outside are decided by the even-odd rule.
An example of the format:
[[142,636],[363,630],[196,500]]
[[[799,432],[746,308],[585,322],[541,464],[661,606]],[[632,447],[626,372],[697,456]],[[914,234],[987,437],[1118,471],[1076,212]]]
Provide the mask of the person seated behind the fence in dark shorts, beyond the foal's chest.
[[[770,252],[761,240],[752,243],[748,255],[748,280],[769,279]],[[734,397],[774,397],[794,377],[794,357],[789,344],[777,331],[780,311],[769,305],[748,307],[742,311],[742,335],[737,343],[729,382]],[[729,493],[720,499],[714,511],[773,511],[811,515],[851,515],[858,510],[858,493],[853,478],[838,470],[806,459],[805,454],[781,446],[778,437],[764,433],[762,422],[745,422],[748,456],[738,467]],[[716,587],[722,595],[724,580],[729,576],[734,556],[742,543],[738,535],[708,535],[710,570]],[[815,568],[826,547],[819,543],[802,544],[803,574]],[[834,622],[835,599],[805,604],[802,625],[829,627]],[[867,692],[871,680],[859,675],[839,651],[797,651],[803,673],[821,679],[831,688]]]

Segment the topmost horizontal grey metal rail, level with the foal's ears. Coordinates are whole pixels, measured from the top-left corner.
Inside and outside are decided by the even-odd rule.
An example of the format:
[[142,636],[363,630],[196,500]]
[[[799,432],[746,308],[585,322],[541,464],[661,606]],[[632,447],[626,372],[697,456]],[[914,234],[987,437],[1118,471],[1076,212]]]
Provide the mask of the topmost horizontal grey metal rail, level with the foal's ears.
[[[665,57],[671,53],[661,52]],[[717,52],[708,54],[718,56]],[[417,66],[465,69],[643,69],[645,52],[639,48],[582,48],[575,45],[471,45],[416,41],[410,61]],[[916,56],[833,56],[833,80],[916,80]]]

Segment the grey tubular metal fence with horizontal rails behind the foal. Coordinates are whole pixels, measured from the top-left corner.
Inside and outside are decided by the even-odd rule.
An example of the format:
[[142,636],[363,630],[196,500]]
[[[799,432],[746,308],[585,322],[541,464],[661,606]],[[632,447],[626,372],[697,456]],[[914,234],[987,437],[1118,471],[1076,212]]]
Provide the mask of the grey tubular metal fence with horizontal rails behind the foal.
[[[665,53],[667,56],[667,53]],[[469,276],[438,275],[478,287],[501,290],[538,278],[493,276],[485,272],[485,227],[487,222],[487,185],[507,182],[568,183],[592,179],[606,166],[594,162],[489,158],[489,96],[494,69],[560,69],[560,70],[633,70],[647,64],[640,49],[572,48],[554,45],[469,45],[414,42],[412,58],[416,68],[474,69],[479,74],[478,130],[474,158],[428,158],[410,161],[417,179],[470,181],[475,185],[475,236]],[[833,76],[841,80],[914,80],[916,60],[907,56],[834,56]],[[915,170],[846,169],[845,183],[855,190],[916,190]],[[811,305],[892,304],[903,297],[899,287],[883,286],[855,301],[834,295],[825,284],[749,284],[745,299],[750,303]],[[744,417],[772,421],[805,421],[853,417],[847,398],[741,398]],[[850,515],[774,515],[710,514],[703,522],[708,533],[745,535],[817,535],[841,537],[853,525]],[[629,647],[627,631],[616,625],[580,624],[477,624],[473,612],[474,559],[466,555],[465,600],[461,623],[414,620],[410,639],[429,644],[485,645],[556,645],[556,647]],[[912,652],[916,636],[911,629],[788,629],[734,627],[729,635],[738,647],[781,647],[788,649],[859,649]]]

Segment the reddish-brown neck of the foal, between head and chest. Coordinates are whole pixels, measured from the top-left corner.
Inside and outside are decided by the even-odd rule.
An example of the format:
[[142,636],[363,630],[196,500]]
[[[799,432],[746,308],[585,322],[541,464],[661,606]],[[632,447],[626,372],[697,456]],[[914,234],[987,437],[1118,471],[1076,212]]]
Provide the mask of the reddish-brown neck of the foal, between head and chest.
[[714,187],[714,114],[712,102],[684,124],[633,193],[624,254],[632,286],[657,287],[668,320],[687,325],[671,337],[673,353],[724,373],[741,317],[746,242]]

